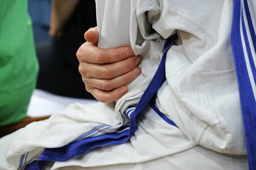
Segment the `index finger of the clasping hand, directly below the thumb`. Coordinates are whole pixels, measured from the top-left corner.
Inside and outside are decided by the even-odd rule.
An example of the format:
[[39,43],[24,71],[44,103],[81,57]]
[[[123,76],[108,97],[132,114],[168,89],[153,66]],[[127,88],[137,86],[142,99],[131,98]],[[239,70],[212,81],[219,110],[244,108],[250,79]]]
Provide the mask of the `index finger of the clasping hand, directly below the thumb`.
[[88,42],[81,45],[76,53],[79,62],[90,62],[95,64],[117,62],[133,55],[134,52],[131,47],[103,49]]

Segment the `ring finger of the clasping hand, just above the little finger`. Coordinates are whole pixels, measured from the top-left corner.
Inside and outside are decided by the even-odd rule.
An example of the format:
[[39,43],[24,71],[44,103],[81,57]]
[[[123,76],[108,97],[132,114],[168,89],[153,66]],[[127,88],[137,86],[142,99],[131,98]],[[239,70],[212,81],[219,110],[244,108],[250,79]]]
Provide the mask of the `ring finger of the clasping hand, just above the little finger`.
[[83,79],[84,83],[89,86],[93,86],[95,88],[111,91],[115,88],[122,87],[123,85],[127,85],[132,82],[136,77],[138,77],[141,73],[139,67],[134,68],[132,71],[125,73],[119,77],[115,77],[113,79],[95,79],[95,78],[87,78]]

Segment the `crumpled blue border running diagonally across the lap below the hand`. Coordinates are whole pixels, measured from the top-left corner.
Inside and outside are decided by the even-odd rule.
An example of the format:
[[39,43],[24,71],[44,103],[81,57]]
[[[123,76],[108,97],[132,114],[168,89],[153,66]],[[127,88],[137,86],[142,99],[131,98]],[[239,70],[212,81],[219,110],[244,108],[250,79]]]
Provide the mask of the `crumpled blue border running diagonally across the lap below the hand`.
[[[130,121],[130,129],[125,130],[125,127],[123,127],[124,131],[122,132],[106,133],[104,135],[94,136],[90,138],[84,138],[87,135],[83,134],[82,136],[79,136],[79,138],[77,138],[81,140],[72,142],[70,144],[67,144],[66,146],[58,148],[46,148],[39,156],[36,164],[33,164],[33,166],[29,166],[29,168],[37,168],[37,170],[41,170],[44,166],[45,161],[67,161],[72,158],[77,158],[95,147],[122,144],[128,141],[128,139],[130,139],[131,135],[134,133],[135,128],[137,127],[135,117],[148,105],[150,99],[154,96],[154,94],[156,94],[163,82],[163,79],[165,78],[166,52],[172,46],[173,39],[175,39],[176,36],[177,35],[175,34],[175,36],[170,37],[166,41],[160,65],[157,68],[153,79],[148,85],[148,88],[145,90],[136,108],[134,110],[132,109],[133,112],[131,113],[132,119]],[[132,130],[131,127],[133,128]],[[122,127],[120,127],[119,130],[120,129],[122,129]]]

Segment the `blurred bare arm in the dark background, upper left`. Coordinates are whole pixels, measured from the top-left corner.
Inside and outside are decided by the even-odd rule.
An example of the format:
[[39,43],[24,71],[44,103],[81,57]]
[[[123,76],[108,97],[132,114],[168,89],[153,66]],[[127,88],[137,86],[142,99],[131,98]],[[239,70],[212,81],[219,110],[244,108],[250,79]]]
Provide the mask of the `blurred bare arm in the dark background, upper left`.
[[52,0],[52,13],[49,34],[54,37],[67,21],[79,0]]

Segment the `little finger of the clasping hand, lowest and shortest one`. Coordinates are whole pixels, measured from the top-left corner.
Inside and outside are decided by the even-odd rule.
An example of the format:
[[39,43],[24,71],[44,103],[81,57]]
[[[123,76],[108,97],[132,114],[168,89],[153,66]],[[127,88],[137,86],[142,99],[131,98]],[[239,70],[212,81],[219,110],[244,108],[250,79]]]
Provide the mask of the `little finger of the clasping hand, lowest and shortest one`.
[[100,102],[113,102],[120,99],[128,91],[126,86],[116,88],[113,91],[104,91],[98,88],[91,88],[90,93]]

